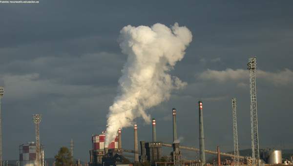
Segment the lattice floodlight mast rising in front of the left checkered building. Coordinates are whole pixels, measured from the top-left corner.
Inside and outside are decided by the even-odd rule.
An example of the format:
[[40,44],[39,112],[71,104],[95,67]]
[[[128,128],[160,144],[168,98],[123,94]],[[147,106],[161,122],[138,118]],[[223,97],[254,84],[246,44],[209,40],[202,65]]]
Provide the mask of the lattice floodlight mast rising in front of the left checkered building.
[[41,149],[40,149],[40,130],[39,125],[42,120],[42,116],[39,114],[33,115],[33,122],[36,124],[36,160],[37,166],[41,166]]

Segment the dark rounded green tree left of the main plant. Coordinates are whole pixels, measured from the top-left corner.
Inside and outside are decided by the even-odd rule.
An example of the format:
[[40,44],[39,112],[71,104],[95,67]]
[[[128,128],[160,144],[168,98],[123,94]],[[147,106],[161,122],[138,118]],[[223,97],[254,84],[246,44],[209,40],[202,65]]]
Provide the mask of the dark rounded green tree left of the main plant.
[[56,166],[71,166],[71,153],[67,147],[60,148],[58,154],[55,156]]

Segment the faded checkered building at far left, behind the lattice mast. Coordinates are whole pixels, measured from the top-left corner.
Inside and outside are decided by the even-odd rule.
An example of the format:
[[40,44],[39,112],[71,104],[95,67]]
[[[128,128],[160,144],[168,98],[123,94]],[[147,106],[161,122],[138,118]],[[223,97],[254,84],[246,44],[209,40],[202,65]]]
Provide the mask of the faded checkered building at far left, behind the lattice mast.
[[[36,161],[36,143],[28,142],[19,146],[20,150],[20,166],[37,166]],[[44,150],[41,145],[41,166],[44,166]]]

